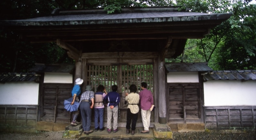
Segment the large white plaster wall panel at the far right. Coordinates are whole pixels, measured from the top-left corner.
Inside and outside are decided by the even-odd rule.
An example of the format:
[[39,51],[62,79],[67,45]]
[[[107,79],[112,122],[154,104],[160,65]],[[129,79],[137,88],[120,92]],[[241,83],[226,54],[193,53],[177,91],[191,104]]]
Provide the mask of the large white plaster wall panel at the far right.
[[206,81],[204,106],[255,106],[256,81]]

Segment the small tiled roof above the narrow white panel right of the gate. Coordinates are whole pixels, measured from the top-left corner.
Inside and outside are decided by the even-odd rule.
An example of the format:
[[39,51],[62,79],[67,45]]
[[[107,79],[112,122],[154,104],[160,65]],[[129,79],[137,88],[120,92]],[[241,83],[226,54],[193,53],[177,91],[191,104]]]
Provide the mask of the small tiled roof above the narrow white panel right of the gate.
[[207,72],[213,71],[207,63],[165,63],[168,72]]

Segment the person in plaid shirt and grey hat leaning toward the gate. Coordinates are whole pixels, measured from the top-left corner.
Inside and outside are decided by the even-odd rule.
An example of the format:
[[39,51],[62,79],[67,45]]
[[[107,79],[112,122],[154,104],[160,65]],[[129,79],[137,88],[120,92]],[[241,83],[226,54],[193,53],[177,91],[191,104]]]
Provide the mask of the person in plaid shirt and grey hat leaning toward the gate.
[[90,85],[86,86],[85,92],[81,95],[80,99],[80,111],[82,115],[82,125],[84,134],[90,134],[93,132],[91,129],[92,122],[92,108],[94,106],[94,92]]

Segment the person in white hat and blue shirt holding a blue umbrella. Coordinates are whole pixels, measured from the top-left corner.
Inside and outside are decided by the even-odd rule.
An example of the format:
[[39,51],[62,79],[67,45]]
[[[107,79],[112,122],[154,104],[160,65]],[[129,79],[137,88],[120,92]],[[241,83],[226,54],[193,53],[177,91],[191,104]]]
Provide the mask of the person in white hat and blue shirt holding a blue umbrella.
[[[73,105],[75,103],[75,101],[79,102],[78,96],[81,93],[80,86],[82,85],[84,80],[81,78],[77,78],[75,82],[76,82],[76,85],[73,87],[72,92],[71,92],[72,97],[73,97],[71,105]],[[71,126],[77,126],[77,124],[80,124],[80,122],[76,122],[78,115],[79,115],[79,110],[73,112],[73,121],[71,122]]]

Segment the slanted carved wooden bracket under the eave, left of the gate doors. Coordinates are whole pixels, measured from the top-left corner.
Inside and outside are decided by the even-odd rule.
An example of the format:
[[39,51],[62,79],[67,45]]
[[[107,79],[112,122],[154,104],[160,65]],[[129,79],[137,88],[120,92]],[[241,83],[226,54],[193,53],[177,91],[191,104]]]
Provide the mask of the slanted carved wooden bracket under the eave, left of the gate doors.
[[68,50],[67,54],[70,58],[74,59],[76,62],[79,61],[80,53],[75,47],[69,45],[68,43],[60,39],[57,39],[56,42],[57,42],[57,45],[59,45],[61,48]]

